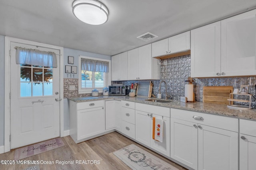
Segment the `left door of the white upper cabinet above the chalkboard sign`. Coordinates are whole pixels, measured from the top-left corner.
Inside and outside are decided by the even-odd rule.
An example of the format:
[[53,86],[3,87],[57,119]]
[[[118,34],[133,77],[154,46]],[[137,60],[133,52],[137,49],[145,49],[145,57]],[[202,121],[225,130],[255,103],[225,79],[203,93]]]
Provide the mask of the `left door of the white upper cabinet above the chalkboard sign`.
[[138,48],[128,51],[127,78],[128,80],[138,79]]

